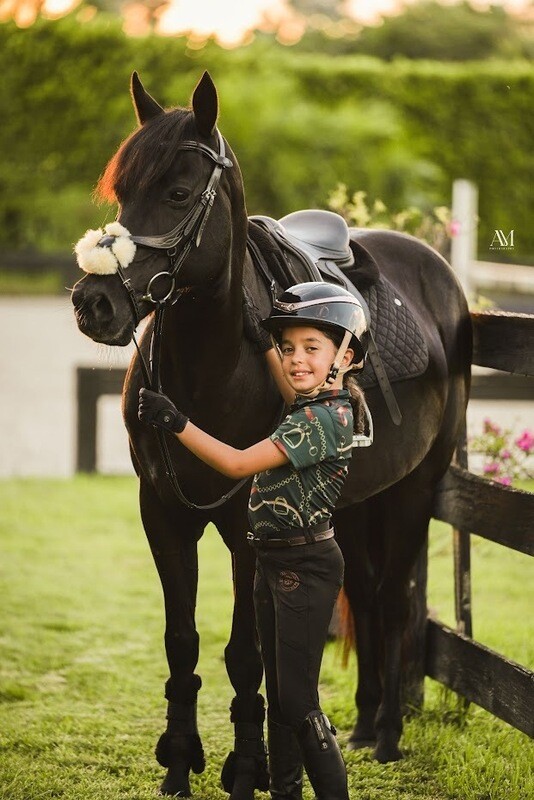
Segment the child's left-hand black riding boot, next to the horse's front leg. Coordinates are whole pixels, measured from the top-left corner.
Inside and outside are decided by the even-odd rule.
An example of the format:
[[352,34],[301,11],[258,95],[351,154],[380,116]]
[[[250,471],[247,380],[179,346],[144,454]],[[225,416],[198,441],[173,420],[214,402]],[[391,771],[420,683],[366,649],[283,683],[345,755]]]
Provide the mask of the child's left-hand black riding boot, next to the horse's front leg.
[[272,800],[302,800],[302,754],[293,728],[267,716]]

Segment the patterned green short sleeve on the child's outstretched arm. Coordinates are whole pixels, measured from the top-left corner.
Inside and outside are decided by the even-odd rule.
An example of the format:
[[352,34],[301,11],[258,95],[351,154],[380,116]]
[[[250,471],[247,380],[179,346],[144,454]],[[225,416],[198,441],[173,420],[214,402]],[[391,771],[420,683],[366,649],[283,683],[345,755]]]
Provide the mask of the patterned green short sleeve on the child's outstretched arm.
[[334,421],[319,405],[289,414],[270,438],[295,469],[338,457]]

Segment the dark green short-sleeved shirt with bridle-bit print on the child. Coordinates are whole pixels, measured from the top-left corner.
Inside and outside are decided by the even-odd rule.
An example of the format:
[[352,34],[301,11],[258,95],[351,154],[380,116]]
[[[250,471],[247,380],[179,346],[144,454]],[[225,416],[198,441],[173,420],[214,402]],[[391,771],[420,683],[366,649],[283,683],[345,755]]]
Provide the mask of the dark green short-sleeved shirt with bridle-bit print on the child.
[[299,399],[271,435],[288,464],[254,476],[249,521],[256,535],[327,521],[352,455],[353,415],[346,390]]

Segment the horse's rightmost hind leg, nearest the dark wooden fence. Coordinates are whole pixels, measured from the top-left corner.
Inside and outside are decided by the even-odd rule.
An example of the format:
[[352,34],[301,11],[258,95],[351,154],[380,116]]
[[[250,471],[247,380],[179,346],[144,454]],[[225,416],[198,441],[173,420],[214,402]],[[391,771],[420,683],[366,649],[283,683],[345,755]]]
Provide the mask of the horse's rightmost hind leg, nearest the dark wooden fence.
[[375,758],[398,761],[402,733],[401,679],[403,639],[410,614],[409,583],[423,547],[432,509],[432,487],[421,467],[381,493],[380,511],[385,536],[384,572],[378,602],[382,615],[384,658],[383,693],[375,721]]

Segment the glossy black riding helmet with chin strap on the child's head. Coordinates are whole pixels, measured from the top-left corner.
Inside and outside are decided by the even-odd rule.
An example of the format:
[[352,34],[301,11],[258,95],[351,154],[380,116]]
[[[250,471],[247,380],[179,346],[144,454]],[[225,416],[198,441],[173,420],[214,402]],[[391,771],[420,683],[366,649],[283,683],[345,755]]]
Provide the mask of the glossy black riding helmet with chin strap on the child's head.
[[348,347],[354,350],[353,361],[358,364],[367,355],[369,322],[363,300],[360,303],[342,286],[310,281],[286,289],[262,325],[275,339],[290,325],[310,325],[341,337],[348,331],[352,335]]

